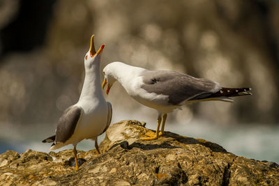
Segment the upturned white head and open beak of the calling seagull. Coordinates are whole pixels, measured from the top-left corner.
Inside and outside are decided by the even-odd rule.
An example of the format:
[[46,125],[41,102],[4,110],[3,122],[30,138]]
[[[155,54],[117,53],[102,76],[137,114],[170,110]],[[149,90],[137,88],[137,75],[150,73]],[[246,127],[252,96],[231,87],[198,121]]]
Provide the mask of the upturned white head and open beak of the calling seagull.
[[98,52],[96,52],[95,46],[94,46],[94,35],[91,36],[91,42],[90,42],[90,49],[84,56],[84,66],[85,69],[91,69],[94,64],[100,64],[100,56],[102,56],[103,48],[105,45],[103,44],[100,49],[98,49]]

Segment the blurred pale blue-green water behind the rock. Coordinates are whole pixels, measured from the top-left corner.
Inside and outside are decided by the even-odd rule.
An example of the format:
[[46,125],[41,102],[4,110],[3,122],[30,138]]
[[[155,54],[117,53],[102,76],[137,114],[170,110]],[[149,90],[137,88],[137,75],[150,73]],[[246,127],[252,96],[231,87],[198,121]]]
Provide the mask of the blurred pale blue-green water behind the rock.
[[[127,116],[126,113],[114,116],[112,123],[121,120],[135,119],[145,121],[146,127],[156,129],[156,116],[154,118],[144,118],[138,113]],[[30,127],[0,127],[0,153],[6,150],[16,150],[22,153],[27,149],[50,152],[50,144],[43,144],[41,141],[53,134],[54,125],[33,125]],[[227,151],[235,155],[248,157],[255,160],[267,160],[279,162],[279,127],[276,125],[260,124],[232,124],[220,126],[208,123],[199,119],[189,122],[167,121],[165,130],[181,134],[186,137],[206,139],[223,146]],[[98,143],[102,141],[105,134],[98,137]],[[59,150],[73,148],[72,145]],[[77,145],[78,150],[91,150],[94,143],[91,140],[84,140]],[[58,152],[59,150],[55,150]]]

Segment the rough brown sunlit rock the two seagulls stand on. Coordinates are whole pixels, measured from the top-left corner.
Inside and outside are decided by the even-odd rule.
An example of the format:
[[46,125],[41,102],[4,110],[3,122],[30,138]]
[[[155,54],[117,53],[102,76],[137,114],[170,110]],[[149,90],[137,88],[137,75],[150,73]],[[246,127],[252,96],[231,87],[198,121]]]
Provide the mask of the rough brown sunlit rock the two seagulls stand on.
[[[279,185],[279,167],[228,153],[204,139],[166,132],[142,141],[144,123],[121,121],[107,129],[96,150],[0,155],[0,185]],[[82,162],[82,161],[81,161]]]

